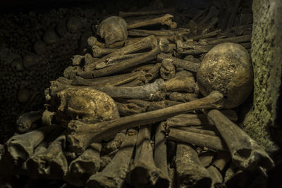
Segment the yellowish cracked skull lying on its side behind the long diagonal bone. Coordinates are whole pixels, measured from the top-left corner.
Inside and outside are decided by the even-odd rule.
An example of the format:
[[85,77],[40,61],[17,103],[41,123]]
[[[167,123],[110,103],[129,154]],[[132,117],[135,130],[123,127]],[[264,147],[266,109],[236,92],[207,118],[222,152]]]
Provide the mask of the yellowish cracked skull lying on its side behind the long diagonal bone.
[[82,120],[97,123],[119,118],[114,100],[104,92],[91,88],[67,88],[56,94],[52,100],[56,106],[56,120]]

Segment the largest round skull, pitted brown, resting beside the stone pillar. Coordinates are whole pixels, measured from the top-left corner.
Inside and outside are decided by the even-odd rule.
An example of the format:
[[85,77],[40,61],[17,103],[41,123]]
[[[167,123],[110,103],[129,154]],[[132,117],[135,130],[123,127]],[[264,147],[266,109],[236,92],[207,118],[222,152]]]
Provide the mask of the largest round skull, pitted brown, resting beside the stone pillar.
[[225,96],[224,108],[234,108],[252,92],[253,73],[250,55],[240,44],[214,46],[204,56],[197,71],[200,92],[207,96],[216,90]]

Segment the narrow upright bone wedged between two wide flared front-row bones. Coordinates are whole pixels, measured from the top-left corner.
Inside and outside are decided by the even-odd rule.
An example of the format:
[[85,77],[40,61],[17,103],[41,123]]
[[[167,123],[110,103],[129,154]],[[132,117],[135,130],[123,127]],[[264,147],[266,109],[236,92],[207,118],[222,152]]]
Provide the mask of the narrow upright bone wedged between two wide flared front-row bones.
[[166,135],[164,130],[164,124],[159,123],[154,138],[154,163],[156,164],[157,168],[159,168],[166,176],[168,176]]

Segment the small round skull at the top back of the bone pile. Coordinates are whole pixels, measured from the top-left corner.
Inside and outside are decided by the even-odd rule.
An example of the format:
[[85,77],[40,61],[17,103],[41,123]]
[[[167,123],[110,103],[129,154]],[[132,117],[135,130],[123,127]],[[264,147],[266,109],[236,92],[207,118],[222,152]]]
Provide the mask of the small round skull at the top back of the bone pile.
[[118,16],[106,18],[99,24],[97,35],[105,39],[107,45],[118,41],[125,41],[128,38],[127,23]]

